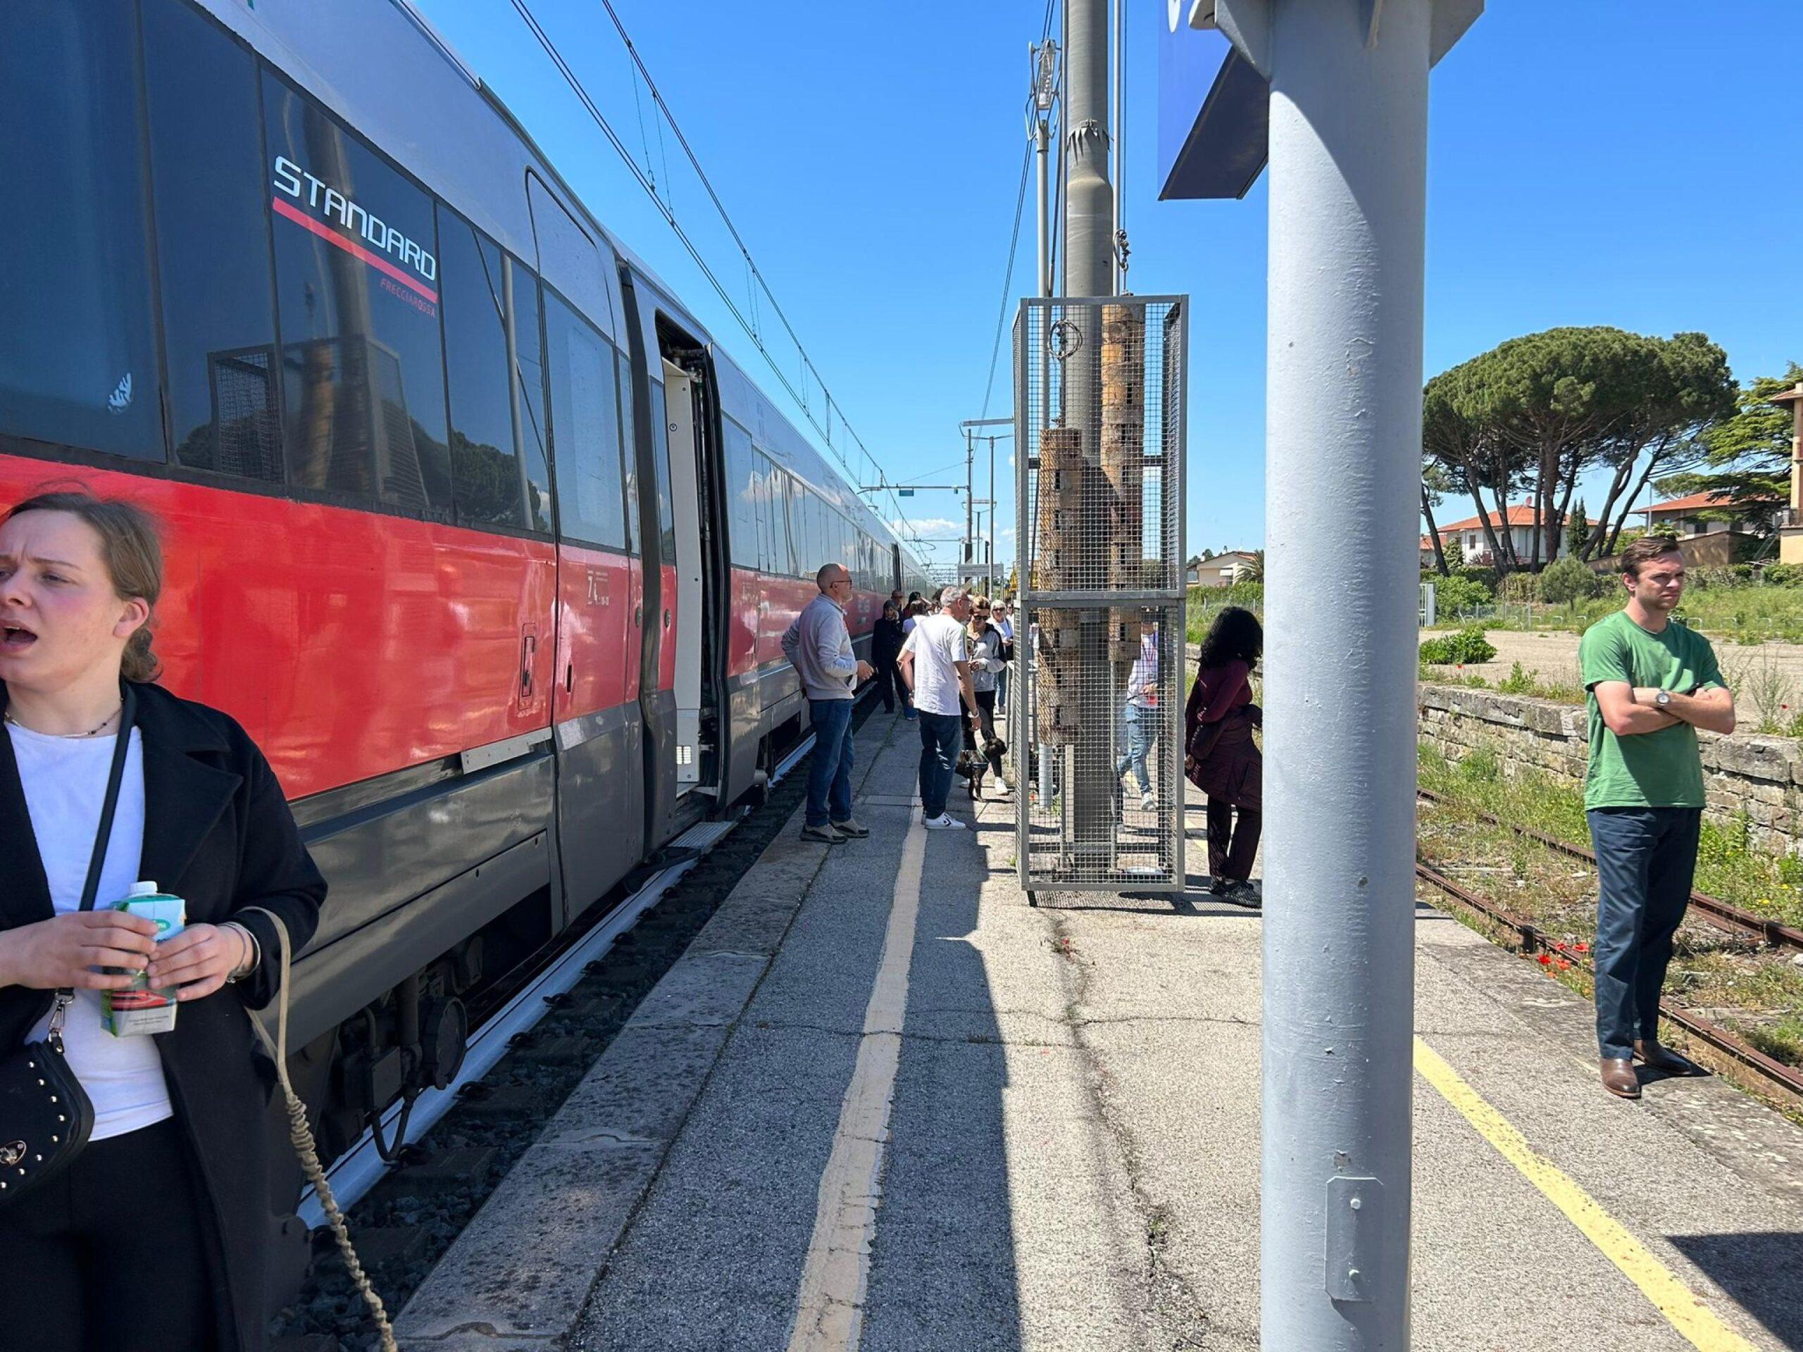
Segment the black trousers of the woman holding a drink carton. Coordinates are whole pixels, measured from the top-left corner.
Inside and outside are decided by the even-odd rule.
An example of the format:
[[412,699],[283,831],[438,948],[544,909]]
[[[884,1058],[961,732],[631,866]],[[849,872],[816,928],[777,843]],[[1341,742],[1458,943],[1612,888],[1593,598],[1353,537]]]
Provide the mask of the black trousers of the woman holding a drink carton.
[[0,1211],[0,1343],[31,1352],[213,1352],[202,1195],[173,1119],[92,1141]]

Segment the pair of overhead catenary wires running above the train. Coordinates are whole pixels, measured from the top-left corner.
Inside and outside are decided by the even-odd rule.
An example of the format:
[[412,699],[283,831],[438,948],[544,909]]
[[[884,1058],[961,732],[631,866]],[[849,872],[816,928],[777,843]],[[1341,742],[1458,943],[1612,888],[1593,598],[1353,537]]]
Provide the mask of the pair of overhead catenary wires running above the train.
[[[608,11],[608,18],[613,20],[613,27],[620,34],[620,41],[626,45],[626,50],[633,59],[633,67],[636,69],[638,76],[645,81],[645,90],[651,94],[651,101],[664,115],[664,121],[669,123],[671,132],[676,137],[676,144],[682,146],[683,155],[689,157],[689,164],[694,168],[696,177],[701,180],[701,187],[707,191],[709,200],[714,204],[714,211],[719,215],[721,224],[725,224],[727,233],[732,236],[734,245],[739,249],[746,270],[757,283],[757,290],[763,290],[770,312],[783,324],[783,330],[788,333],[790,343],[795,344],[795,352],[801,355],[799,379],[802,388],[797,388],[795,379],[790,377],[790,373],[777,361],[775,353],[764,343],[761,332],[763,324],[745,314],[745,308],[741,308],[741,305],[732,297],[732,292],[719,279],[719,274],[716,274],[714,269],[709,265],[707,258],[703,258],[700,247],[683,229],[682,222],[676,220],[676,211],[665,195],[667,187],[665,193],[660,193],[656,178],[649,173],[649,146],[647,146],[647,164],[642,168],[638,160],[633,157],[631,150],[627,150],[626,142],[620,139],[618,132],[613,130],[613,124],[608,121],[606,114],[600,112],[595,99],[590,96],[588,88],[582,85],[581,78],[564,59],[563,52],[557,49],[557,43],[545,31],[545,25],[539,23],[537,16],[532,13],[532,7],[526,4],[526,0],[512,0],[512,5],[514,11],[519,14],[519,18],[525,22],[526,29],[530,29],[532,36],[537,40],[539,47],[545,49],[545,54],[552,59],[552,65],[557,67],[557,74],[563,76],[572,94],[575,94],[577,101],[582,105],[582,110],[590,115],[595,126],[600,128],[602,135],[608,139],[608,144],[613,146],[615,153],[620,157],[620,162],[626,164],[633,178],[638,180],[638,186],[644,187],[645,195],[656,204],[658,211],[664,216],[664,222],[671,227],[671,233],[676,234],[676,240],[687,251],[694,265],[701,270],[701,276],[707,278],[709,285],[714,288],[714,294],[719,296],[721,305],[727,306],[727,312],[734,317],[734,321],[737,321],[739,328],[745,330],[745,335],[752,341],[752,346],[757,348],[759,355],[770,366],[772,375],[775,375],[775,379],[783,384],[790,398],[795,400],[795,406],[801,409],[802,416],[808,418],[810,424],[813,424],[813,429],[817,433],[820,433],[822,440],[826,442],[828,452],[835,460],[838,460],[840,467],[844,467],[844,470],[853,478],[853,481],[856,481],[858,474],[851,469],[851,461],[846,460],[844,452],[833,442],[833,415],[837,411],[838,425],[844,431],[844,436],[851,438],[858,452],[869,463],[869,467],[876,470],[878,480],[887,483],[887,480],[883,480],[883,467],[876,461],[876,456],[873,456],[869,447],[864,445],[864,438],[858,436],[856,429],[846,418],[844,406],[840,406],[838,400],[833,398],[833,391],[828,389],[826,380],[820,379],[820,370],[813,364],[813,359],[802,346],[801,337],[795,333],[795,326],[790,323],[788,314],[784,314],[781,303],[777,301],[775,292],[770,290],[770,283],[764,281],[763,272],[757,269],[757,260],[752,258],[750,247],[746,247],[745,238],[739,234],[737,225],[734,225],[732,216],[727,213],[727,206],[719,200],[719,193],[714,191],[714,184],[707,177],[707,171],[701,168],[701,160],[696,157],[694,148],[689,144],[689,139],[676,124],[676,117],[671,114],[669,105],[664,101],[664,94],[658,90],[656,81],[651,78],[651,70],[645,67],[644,58],[638,54],[638,47],[633,45],[631,34],[627,34],[626,25],[620,22],[618,13],[615,13],[611,0],[602,0],[602,7]],[[636,96],[636,85],[635,85],[635,96]],[[658,137],[662,141],[662,124],[658,130]],[[667,168],[664,177],[667,184],[669,180]],[[815,415],[813,402],[808,398],[806,391],[808,377],[813,377],[813,384],[820,388],[820,395],[824,400],[819,416]],[[891,510],[894,512],[894,519],[900,521],[907,519],[905,514],[902,512],[900,499],[896,498],[894,489],[889,489],[889,505]]]

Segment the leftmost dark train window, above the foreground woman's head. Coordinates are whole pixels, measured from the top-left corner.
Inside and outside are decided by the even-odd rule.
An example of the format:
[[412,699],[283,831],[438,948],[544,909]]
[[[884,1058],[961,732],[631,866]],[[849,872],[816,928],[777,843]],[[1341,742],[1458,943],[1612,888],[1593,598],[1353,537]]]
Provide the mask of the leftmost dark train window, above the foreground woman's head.
[[0,5],[0,434],[162,460],[135,5]]

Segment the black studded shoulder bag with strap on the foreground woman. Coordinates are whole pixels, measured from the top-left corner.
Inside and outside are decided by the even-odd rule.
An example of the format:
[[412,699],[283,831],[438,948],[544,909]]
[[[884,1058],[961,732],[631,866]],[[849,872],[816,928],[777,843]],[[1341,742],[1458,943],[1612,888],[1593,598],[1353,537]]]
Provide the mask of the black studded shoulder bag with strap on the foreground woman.
[[[119,806],[124,759],[132,750],[132,714],[137,701],[132,683],[123,681],[123,687],[119,735],[114,743],[112,770],[106,773],[106,797],[101,800],[101,824],[94,833],[88,878],[81,887],[81,910],[94,909],[101,869],[106,865],[114,809]],[[56,991],[43,1042],[27,1042],[0,1055],[0,1210],[13,1206],[20,1197],[29,1197],[69,1168],[94,1130],[94,1103],[63,1058],[63,1019],[74,1000],[72,988]]]

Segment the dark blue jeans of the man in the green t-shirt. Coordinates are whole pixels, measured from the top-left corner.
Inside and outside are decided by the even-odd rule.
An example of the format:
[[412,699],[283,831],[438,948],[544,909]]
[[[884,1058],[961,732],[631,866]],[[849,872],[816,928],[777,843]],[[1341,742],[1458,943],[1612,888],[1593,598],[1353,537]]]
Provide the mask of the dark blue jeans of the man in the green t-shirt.
[[1635,1038],[1659,1037],[1659,991],[1671,936],[1689,905],[1702,808],[1594,808],[1596,1042],[1603,1056],[1634,1056]]

